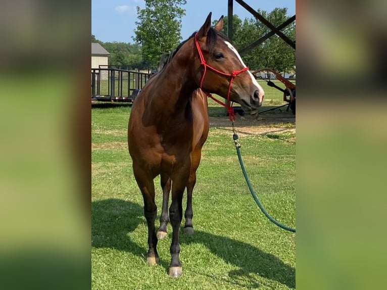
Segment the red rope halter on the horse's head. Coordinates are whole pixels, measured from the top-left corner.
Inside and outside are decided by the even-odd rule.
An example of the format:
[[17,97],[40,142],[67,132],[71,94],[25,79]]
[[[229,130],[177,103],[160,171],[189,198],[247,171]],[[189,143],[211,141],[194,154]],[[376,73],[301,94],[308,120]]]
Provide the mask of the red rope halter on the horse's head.
[[[221,74],[221,75],[224,75],[224,76],[228,76],[228,77],[231,77],[230,79],[230,84],[228,85],[228,92],[227,92],[227,103],[230,102],[230,93],[231,93],[231,86],[232,86],[232,82],[234,81],[234,78],[240,74],[240,73],[243,73],[245,71],[248,71],[249,68],[244,68],[244,69],[241,69],[239,71],[233,71],[232,73],[228,74],[228,73],[224,73],[224,72],[221,72],[219,70],[217,70],[216,68],[210,66],[207,64],[206,60],[204,59],[203,57],[203,53],[202,53],[202,50],[200,49],[200,45],[199,45],[199,41],[198,41],[198,33],[195,34],[195,44],[196,44],[196,47],[198,49],[198,53],[199,53],[199,57],[200,57],[200,64],[202,66],[204,66],[204,73],[203,73],[203,76],[202,76],[202,79],[200,80],[200,88],[202,88],[202,85],[203,85],[203,81],[204,81],[204,78],[206,76],[206,73],[207,73],[207,68],[209,68],[210,70],[218,73],[218,74]],[[215,99],[211,93],[208,93],[206,92],[207,96],[209,96],[212,100],[214,100],[216,103],[226,107],[227,109],[227,112],[228,112],[228,116],[230,118],[230,121],[235,121],[235,114],[234,114],[234,109],[232,109],[232,107],[228,106],[227,103],[222,103],[220,101],[218,101],[217,99]],[[231,105],[232,106],[232,105]]]

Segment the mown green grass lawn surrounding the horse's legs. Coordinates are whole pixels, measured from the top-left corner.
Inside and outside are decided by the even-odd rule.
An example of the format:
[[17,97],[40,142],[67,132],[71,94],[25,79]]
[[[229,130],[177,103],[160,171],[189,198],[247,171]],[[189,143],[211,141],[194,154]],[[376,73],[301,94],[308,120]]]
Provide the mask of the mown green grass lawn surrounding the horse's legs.
[[[130,107],[107,105],[92,109],[93,289],[295,288],[295,234],[276,227],[260,212],[244,181],[231,135],[220,128],[210,129],[197,172],[196,232],[180,234],[183,276],[167,275],[170,225],[169,236],[158,244],[160,264],[147,266],[147,225],[126,145]],[[273,135],[241,137],[240,142],[262,203],[278,221],[295,227],[295,143]],[[162,203],[158,177],[155,186],[158,226]]]

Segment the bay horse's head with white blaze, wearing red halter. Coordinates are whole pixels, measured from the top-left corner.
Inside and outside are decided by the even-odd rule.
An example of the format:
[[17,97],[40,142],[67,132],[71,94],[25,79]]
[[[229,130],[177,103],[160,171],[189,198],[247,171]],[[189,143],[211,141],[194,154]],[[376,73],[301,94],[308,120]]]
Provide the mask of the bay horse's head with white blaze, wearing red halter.
[[206,92],[229,98],[229,101],[239,103],[247,111],[255,110],[262,106],[264,90],[235,47],[219,33],[222,29],[223,16],[212,28],[210,13],[196,34],[196,55],[199,54],[202,68],[196,70],[195,81]]

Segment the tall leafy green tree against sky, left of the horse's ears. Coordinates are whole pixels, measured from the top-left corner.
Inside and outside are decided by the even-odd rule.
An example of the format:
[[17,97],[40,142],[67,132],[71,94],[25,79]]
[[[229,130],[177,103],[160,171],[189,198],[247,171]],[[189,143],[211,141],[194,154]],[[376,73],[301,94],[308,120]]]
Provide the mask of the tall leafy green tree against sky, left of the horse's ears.
[[181,41],[181,8],[186,0],[145,0],[137,7],[137,28],[133,40],[142,46],[142,59],[156,68],[164,53],[172,52]]

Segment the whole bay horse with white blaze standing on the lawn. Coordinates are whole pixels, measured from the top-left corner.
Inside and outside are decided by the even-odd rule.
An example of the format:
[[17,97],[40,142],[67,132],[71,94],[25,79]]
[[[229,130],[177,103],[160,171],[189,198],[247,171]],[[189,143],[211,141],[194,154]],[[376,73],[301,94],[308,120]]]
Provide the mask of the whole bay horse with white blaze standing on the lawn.
[[168,272],[172,277],[182,275],[179,229],[185,187],[188,196],[185,228],[192,228],[192,190],[209,130],[205,94],[216,93],[239,103],[247,112],[262,106],[264,98],[262,87],[227,37],[220,33],[222,28],[223,16],[213,28],[210,13],[199,31],[183,41],[163,69],[142,88],[129,117],[129,154],[148,225],[147,263],[159,263],[154,178],[160,175],[163,212],[159,237],[165,235],[169,220],[172,243]]

